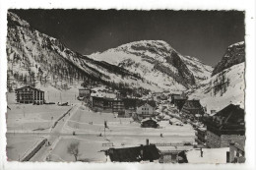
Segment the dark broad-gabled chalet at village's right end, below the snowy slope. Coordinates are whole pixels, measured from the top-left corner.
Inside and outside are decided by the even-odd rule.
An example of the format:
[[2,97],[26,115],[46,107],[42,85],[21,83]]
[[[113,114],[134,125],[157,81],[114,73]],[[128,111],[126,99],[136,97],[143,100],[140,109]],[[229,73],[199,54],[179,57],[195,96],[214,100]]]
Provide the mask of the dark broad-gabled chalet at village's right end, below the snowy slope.
[[204,115],[204,108],[199,100],[186,100],[181,109],[181,113],[186,118],[194,119]]

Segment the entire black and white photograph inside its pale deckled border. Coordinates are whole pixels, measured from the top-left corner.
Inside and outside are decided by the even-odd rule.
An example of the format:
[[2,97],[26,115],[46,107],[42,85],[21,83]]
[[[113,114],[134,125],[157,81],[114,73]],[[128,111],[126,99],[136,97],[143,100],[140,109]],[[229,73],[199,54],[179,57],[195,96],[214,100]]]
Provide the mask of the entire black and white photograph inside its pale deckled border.
[[246,163],[245,11],[6,16],[7,162]]

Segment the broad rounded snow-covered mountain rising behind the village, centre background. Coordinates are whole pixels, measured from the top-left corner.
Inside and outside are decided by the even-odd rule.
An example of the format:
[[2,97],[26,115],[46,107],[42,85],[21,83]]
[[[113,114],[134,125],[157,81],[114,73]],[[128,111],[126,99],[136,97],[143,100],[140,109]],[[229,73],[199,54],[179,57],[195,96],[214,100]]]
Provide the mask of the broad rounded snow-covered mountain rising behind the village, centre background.
[[182,56],[162,40],[135,41],[89,57],[139,74],[170,90],[188,89],[210,78],[213,70],[194,57]]

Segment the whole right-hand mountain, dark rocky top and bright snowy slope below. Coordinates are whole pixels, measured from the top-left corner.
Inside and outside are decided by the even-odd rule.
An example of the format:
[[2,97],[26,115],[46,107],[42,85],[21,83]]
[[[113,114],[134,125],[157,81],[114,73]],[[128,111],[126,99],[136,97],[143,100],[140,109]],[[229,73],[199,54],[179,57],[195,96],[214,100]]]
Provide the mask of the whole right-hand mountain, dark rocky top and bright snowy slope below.
[[191,90],[189,98],[200,99],[208,113],[211,110],[219,111],[229,103],[244,108],[244,50],[244,42],[228,46],[223,59],[214,69],[214,76]]

